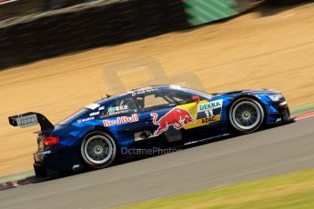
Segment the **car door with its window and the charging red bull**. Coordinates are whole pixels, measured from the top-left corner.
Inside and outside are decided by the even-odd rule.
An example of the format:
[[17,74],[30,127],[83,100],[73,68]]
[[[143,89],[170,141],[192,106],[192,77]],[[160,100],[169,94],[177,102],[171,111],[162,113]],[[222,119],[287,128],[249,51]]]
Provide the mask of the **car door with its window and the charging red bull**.
[[164,137],[168,143],[177,142],[185,138],[188,129],[195,127],[198,102],[189,93],[157,89],[140,91],[134,94],[134,99],[143,130],[149,132],[148,138]]

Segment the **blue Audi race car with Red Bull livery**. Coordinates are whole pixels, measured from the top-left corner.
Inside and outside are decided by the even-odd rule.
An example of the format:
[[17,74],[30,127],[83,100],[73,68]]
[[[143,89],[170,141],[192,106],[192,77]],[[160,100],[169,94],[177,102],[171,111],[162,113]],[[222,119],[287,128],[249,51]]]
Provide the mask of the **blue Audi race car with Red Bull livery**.
[[39,176],[103,168],[145,153],[138,151],[252,133],[290,120],[288,104],[276,91],[208,94],[177,85],[107,95],[56,125],[39,113],[9,117],[14,126],[40,124],[34,154]]

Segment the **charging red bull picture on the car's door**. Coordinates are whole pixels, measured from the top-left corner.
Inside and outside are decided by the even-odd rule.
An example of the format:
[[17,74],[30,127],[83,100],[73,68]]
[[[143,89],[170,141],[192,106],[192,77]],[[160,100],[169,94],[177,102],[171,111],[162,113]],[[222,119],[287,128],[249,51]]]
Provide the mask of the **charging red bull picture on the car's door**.
[[173,126],[177,130],[182,128],[183,125],[194,123],[191,114],[186,110],[179,107],[175,107],[167,114],[162,116],[158,121],[158,114],[150,114],[153,117],[153,124],[158,125],[154,135],[162,134],[167,131],[169,126]]

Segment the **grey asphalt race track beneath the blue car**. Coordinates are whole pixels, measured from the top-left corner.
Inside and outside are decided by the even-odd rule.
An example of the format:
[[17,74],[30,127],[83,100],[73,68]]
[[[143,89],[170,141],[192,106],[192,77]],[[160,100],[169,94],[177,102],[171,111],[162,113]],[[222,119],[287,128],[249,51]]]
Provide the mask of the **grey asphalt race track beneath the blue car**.
[[0,191],[0,208],[105,208],[314,167],[314,117],[115,167]]

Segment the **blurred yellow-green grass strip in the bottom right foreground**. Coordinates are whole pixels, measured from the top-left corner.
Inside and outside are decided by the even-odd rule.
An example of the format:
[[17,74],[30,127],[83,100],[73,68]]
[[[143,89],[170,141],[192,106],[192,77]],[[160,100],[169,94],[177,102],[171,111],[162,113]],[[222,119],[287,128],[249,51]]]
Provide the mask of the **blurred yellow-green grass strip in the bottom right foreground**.
[[116,208],[314,208],[314,170]]

